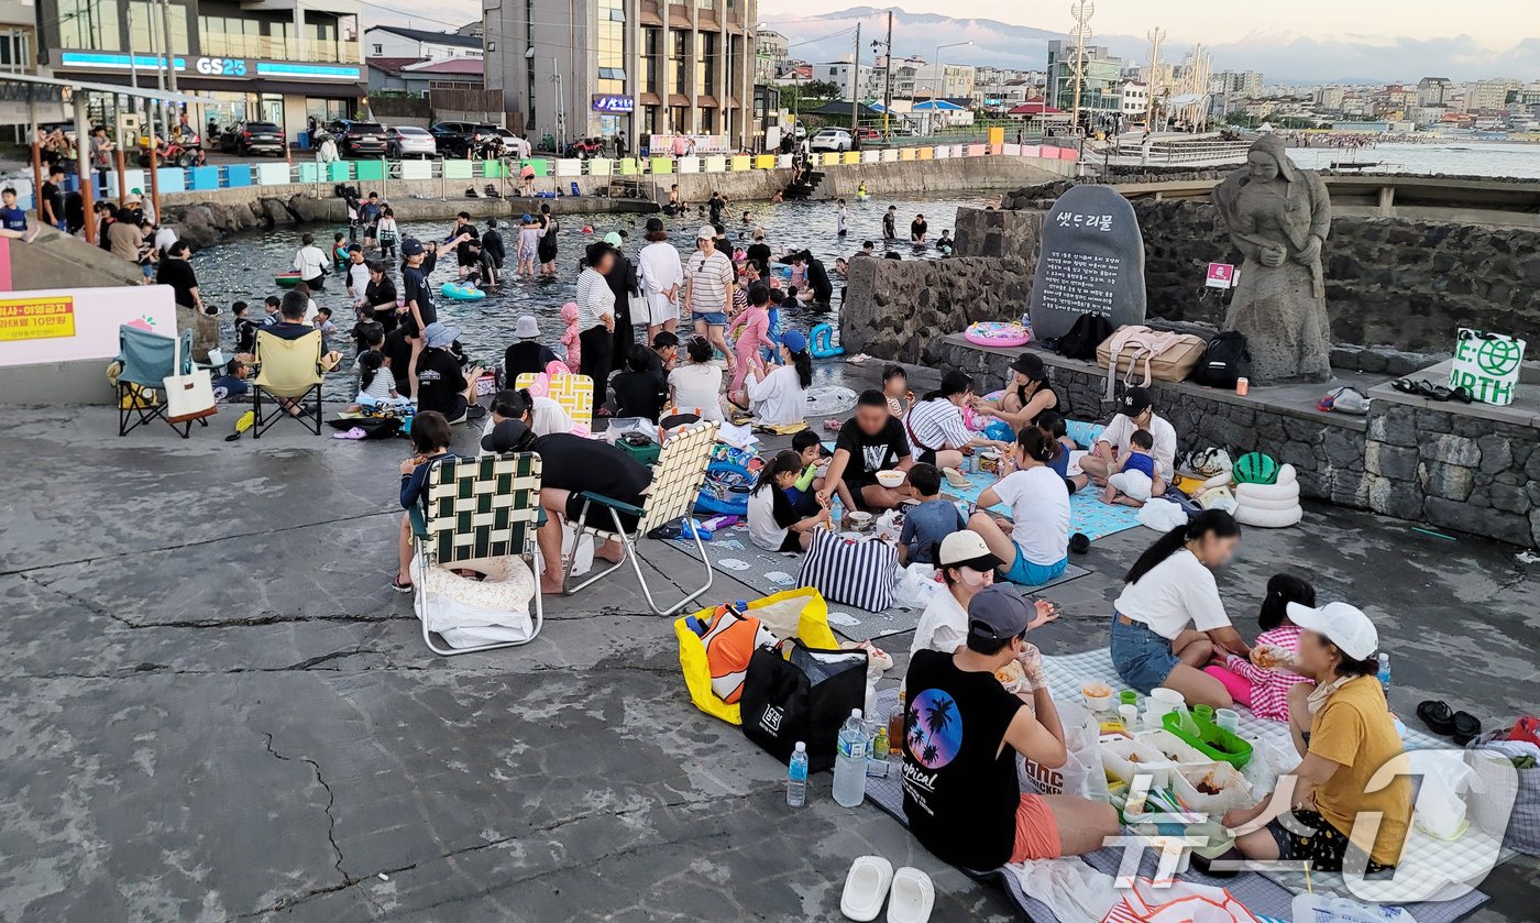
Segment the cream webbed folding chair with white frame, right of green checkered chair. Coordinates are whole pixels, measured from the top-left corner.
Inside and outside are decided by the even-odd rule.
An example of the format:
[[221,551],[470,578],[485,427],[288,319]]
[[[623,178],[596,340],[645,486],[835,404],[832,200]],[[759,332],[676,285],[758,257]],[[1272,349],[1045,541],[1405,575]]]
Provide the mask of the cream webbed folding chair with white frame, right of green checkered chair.
[[[701,485],[705,484],[705,468],[711,461],[711,448],[715,445],[715,422],[699,424],[671,436],[668,442],[664,444],[664,451],[658,458],[658,465],[653,468],[653,482],[647,488],[647,498],[642,501],[641,507],[633,507],[631,504],[593,492],[582,493],[584,504],[574,525],[578,525],[581,532],[593,535],[596,542],[604,542],[611,538],[621,539],[621,544],[625,545],[625,558],[621,564],[625,564],[625,561],[631,562],[631,569],[636,570],[636,579],[642,584],[642,595],[647,596],[647,604],[651,606],[653,612],[658,615],[673,615],[679,609],[684,609],[685,604],[711,589],[711,559],[705,556],[705,544],[701,542],[699,533],[691,530],[691,535],[695,535],[695,547],[701,553],[701,562],[705,564],[705,584],[668,609],[659,609],[658,602],[653,599],[651,589],[647,586],[647,578],[642,575],[642,562],[636,556],[636,542],[659,525],[667,525],[690,515],[690,510],[695,508],[695,501],[701,496]],[[598,525],[587,524],[588,507],[594,504],[610,510],[614,529],[601,529]],[[621,521],[621,513],[634,516],[638,519],[636,529],[627,532],[625,524]],[[576,558],[578,555],[573,555],[573,558],[567,562],[567,573],[562,576],[562,595],[576,593],[621,567],[621,564],[614,564],[590,576],[584,582],[571,586],[571,570]]]

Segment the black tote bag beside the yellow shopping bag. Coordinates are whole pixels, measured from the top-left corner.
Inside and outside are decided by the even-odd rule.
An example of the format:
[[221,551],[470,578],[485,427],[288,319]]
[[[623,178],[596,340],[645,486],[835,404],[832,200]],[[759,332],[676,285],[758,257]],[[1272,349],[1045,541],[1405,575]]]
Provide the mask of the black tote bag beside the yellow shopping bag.
[[795,638],[759,647],[739,701],[744,737],[782,764],[801,741],[808,772],[832,769],[839,727],[865,703],[865,650],[821,650]]

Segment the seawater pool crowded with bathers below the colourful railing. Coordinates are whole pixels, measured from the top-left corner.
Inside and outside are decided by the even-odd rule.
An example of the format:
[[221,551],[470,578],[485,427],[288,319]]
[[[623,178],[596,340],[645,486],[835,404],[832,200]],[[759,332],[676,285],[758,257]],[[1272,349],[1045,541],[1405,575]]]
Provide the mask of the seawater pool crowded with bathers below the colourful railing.
[[[805,248],[824,260],[835,284],[833,310],[804,311],[790,308],[782,310],[781,314],[782,327],[787,330],[807,331],[815,324],[833,322],[838,317],[839,290],[844,287],[844,279],[835,273],[835,259],[841,256],[849,259],[861,250],[862,240],[873,240],[878,245],[878,253],[882,251],[882,214],[889,205],[898,208],[898,231],[904,237],[904,242],[896,250],[902,259],[935,259],[938,254],[933,247],[912,248],[907,243],[909,222],[913,220],[915,214],[926,216],[930,227],[930,239],[935,240],[944,228],[955,230],[953,222],[958,208],[983,208],[993,203],[996,203],[996,197],[984,196],[947,199],[873,197],[869,202],[852,200],[849,202],[849,234],[845,237],[838,237],[835,233],[833,202],[735,203],[724,211],[722,223],[727,227],[727,234],[735,243],[741,242],[747,247],[753,230],[764,228],[765,242],[778,257],[782,253]],[[747,222],[744,220],[744,211],[748,213]],[[608,231],[627,233],[622,250],[633,259],[645,245],[642,228],[648,216],[644,214],[564,214],[559,217],[562,230],[559,234],[556,277],[514,282],[511,280],[513,267],[510,265],[504,268],[500,288],[488,293],[482,300],[460,302],[442,296],[434,299],[439,317],[445,324],[460,328],[462,344],[473,356],[485,361],[500,361],[502,351],[513,342],[513,325],[521,314],[533,314],[541,324],[545,342],[554,344],[564,330],[561,307],[573,299],[576,290],[578,260],[582,257],[584,247]],[[704,223],[704,219],[693,214],[691,210],[688,217],[664,217],[664,220],[668,222],[670,240],[687,257],[693,250],[695,234],[701,223]],[[453,220],[410,222],[402,225],[402,236],[417,236],[424,240],[444,239],[451,225]],[[504,225],[502,234],[511,260],[516,231],[510,230],[507,222],[500,219],[499,225]],[[593,233],[584,234],[584,225],[590,225]],[[485,227],[485,222],[480,227]],[[325,223],[302,228],[277,228],[231,237],[196,253],[192,256],[192,267],[197,270],[203,299],[220,308],[222,342],[226,345],[234,342],[229,314],[231,302],[248,302],[251,305],[249,316],[260,319],[262,300],[270,294],[282,294],[273,282],[273,276],[290,270],[294,251],[299,248],[300,234],[306,231],[313,233],[317,245],[325,248],[331,242],[333,233],[339,230],[345,231],[346,228]],[[376,256],[371,253],[370,259]],[[391,267],[391,274],[399,287],[399,263]],[[433,276],[434,288],[454,277],[456,267],[453,257],[442,259]],[[336,274],[328,276],[326,288],[317,294],[316,304],[333,308],[333,319],[339,331],[351,330],[354,322],[353,305],[348,299],[343,279]],[[334,339],[337,341],[337,348],[346,354],[351,348],[345,342],[346,337],[339,336]],[[343,368],[351,368],[351,364],[345,364]],[[334,374],[340,374],[340,371]]]

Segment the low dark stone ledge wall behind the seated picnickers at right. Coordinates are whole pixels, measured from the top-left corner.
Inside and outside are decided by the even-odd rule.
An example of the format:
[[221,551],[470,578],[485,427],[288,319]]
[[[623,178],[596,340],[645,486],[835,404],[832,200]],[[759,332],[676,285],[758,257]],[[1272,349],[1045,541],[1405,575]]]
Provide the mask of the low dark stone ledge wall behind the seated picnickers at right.
[[[930,364],[962,370],[996,387],[1012,351],[936,337]],[[1075,419],[1107,419],[1106,371],[1043,354]],[[1428,522],[1498,541],[1540,547],[1540,430],[1458,411],[1378,398],[1369,416],[1351,418],[1269,405],[1266,388],[1247,398],[1186,382],[1155,382],[1155,405],[1183,450],[1207,445],[1266,451],[1298,472],[1303,496]]]

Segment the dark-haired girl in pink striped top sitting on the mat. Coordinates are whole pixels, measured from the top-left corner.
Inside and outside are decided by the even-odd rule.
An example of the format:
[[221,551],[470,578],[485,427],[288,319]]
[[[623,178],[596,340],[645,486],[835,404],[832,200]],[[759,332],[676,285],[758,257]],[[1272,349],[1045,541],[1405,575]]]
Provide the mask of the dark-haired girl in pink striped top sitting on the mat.
[[1311,683],[1307,676],[1289,669],[1300,656],[1300,627],[1289,621],[1289,602],[1314,607],[1315,587],[1292,573],[1272,575],[1267,596],[1257,613],[1261,635],[1257,636],[1250,660],[1224,653],[1215,658],[1215,666],[1204,670],[1224,683],[1230,698],[1267,721],[1287,723],[1289,690],[1300,683]]

